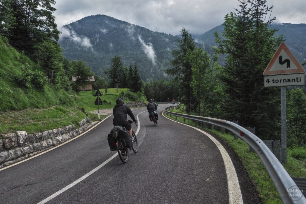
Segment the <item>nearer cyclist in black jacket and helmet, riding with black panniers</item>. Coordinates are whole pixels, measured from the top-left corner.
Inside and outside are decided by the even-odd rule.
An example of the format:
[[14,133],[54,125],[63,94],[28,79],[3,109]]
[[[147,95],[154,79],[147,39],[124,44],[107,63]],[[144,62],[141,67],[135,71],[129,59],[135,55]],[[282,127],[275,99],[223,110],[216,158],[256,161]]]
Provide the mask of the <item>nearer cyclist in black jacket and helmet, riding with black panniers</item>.
[[122,98],[118,98],[116,100],[116,106],[113,109],[113,124],[114,126],[120,125],[122,127],[125,127],[130,132],[132,137],[132,125],[129,123],[129,121],[126,120],[127,114],[129,114],[129,116],[134,122],[137,122],[131,109],[128,106],[123,105]]

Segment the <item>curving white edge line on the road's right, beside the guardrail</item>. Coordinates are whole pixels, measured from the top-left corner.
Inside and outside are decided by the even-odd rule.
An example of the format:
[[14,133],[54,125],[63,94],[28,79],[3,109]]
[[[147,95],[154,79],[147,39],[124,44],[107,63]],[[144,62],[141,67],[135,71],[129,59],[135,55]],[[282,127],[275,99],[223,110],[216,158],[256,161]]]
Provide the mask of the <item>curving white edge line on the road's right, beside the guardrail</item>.
[[[166,116],[164,116],[164,112],[162,112],[162,116],[174,121]],[[207,132],[204,132],[203,130],[200,130],[199,128],[178,122],[178,121],[174,121],[183,125],[186,125],[188,127],[194,128],[200,132],[202,132],[204,135],[206,135],[209,139],[211,139],[216,146],[218,147],[224,165],[225,165],[225,170],[226,170],[226,177],[227,177],[227,187],[228,187],[228,193],[229,193],[229,203],[243,203],[243,199],[242,199],[242,195],[241,195],[241,189],[240,189],[240,185],[239,185],[239,180],[238,180],[238,176],[235,170],[235,167],[233,165],[233,162],[230,158],[230,155],[227,153],[227,151],[225,150],[225,148],[222,146],[221,143],[219,143],[219,141],[217,139],[215,139],[213,136],[211,136],[210,134],[208,134]]]

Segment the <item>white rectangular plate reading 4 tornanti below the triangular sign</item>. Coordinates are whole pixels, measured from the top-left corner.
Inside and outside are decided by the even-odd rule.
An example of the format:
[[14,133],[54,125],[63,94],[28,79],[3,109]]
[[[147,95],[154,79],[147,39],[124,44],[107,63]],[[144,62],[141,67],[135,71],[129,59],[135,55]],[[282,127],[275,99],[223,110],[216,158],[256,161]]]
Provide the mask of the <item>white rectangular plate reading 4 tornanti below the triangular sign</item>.
[[265,87],[304,85],[304,74],[270,75],[264,77]]

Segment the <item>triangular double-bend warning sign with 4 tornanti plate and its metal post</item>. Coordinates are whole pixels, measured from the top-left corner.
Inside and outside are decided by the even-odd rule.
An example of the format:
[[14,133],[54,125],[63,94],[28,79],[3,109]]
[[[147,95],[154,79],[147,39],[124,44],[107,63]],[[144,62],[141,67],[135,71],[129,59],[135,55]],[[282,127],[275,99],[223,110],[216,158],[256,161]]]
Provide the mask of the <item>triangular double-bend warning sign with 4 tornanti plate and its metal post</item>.
[[263,72],[264,87],[281,87],[281,161],[283,164],[287,164],[286,86],[304,85],[304,72],[302,65],[285,43],[281,43]]

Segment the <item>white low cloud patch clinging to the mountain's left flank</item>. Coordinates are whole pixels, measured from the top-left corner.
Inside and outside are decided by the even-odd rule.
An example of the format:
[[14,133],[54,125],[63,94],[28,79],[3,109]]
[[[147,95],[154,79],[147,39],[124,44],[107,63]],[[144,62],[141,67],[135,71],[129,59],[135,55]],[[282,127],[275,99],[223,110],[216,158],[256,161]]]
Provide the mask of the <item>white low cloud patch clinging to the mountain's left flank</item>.
[[62,27],[59,29],[62,33],[60,34],[59,38],[70,38],[74,43],[83,46],[85,48],[92,48],[92,44],[90,43],[90,39],[86,36],[78,36],[76,32],[72,30],[72,28],[65,28]]

